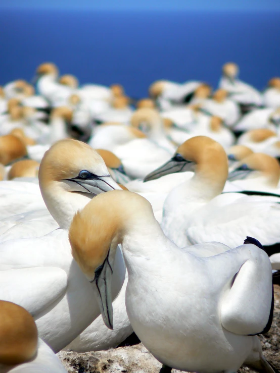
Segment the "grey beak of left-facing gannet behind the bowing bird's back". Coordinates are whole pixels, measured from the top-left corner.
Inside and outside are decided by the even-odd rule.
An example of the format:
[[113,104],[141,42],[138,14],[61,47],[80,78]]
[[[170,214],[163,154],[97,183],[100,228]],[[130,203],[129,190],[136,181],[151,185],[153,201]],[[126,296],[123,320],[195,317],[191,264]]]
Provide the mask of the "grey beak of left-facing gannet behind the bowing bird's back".
[[194,162],[186,161],[185,159],[183,159],[183,161],[175,161],[172,158],[163,166],[159,167],[158,169],[147,175],[143,181],[145,182],[150,180],[156,180],[164,175],[175,174],[178,172],[194,171],[194,167]]

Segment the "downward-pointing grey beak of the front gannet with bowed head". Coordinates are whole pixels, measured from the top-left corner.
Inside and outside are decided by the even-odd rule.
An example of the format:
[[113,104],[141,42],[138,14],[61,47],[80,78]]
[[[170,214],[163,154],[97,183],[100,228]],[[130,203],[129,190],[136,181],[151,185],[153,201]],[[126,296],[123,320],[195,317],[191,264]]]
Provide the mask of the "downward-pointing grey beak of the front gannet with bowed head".
[[104,260],[103,264],[96,269],[95,278],[91,281],[91,283],[94,283],[95,285],[94,290],[104,324],[111,330],[113,330],[111,282],[115,253],[116,249],[109,249],[106,259]]

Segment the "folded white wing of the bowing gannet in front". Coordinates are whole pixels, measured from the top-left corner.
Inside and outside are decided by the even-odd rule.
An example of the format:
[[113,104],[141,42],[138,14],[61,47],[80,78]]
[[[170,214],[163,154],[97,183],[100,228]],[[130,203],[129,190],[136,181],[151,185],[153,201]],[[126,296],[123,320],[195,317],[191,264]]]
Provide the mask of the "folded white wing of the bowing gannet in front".
[[273,317],[272,271],[267,254],[257,246],[247,244],[218,256],[220,260],[224,257],[241,264],[221,299],[223,328],[241,335],[267,332]]

